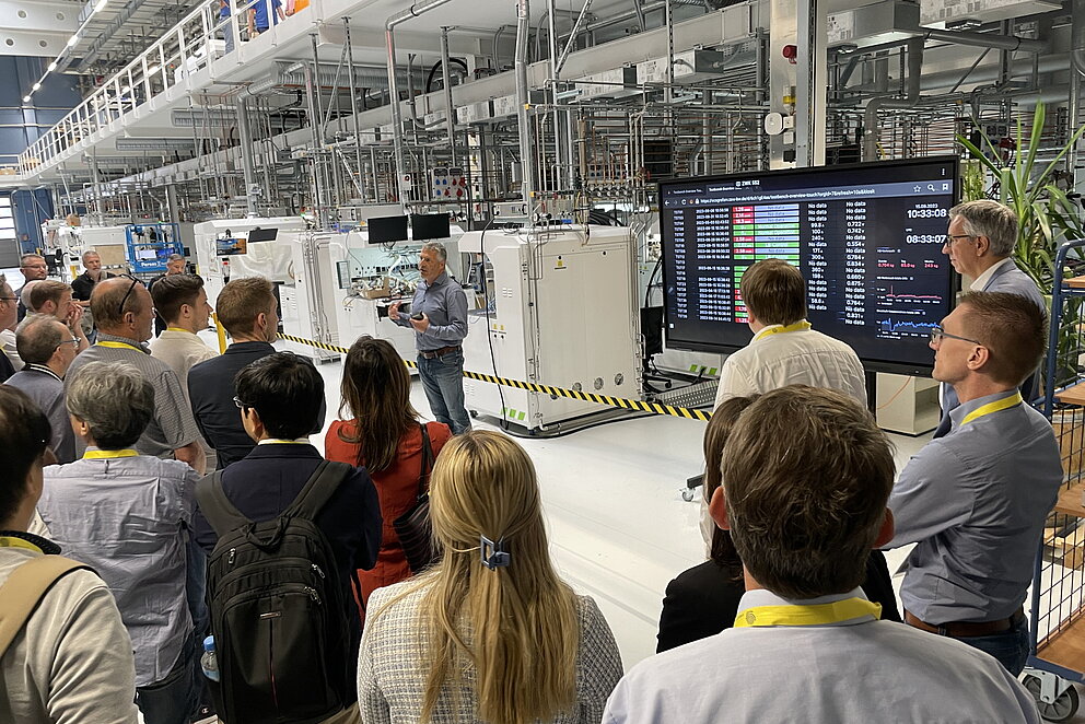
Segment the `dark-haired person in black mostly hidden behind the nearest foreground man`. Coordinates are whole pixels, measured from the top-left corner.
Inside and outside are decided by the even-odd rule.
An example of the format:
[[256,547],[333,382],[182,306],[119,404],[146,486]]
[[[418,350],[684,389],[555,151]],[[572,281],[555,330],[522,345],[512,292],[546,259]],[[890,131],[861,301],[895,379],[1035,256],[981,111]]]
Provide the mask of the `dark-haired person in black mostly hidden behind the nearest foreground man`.
[[[731,429],[743,411],[760,395],[731,397],[720,404],[704,430],[704,499],[712,498],[723,484],[720,460],[731,436]],[[695,565],[667,584],[660,616],[656,653],[707,639],[730,629],[738,615],[738,602],[746,593],[743,562],[731,540],[731,532],[714,527],[709,560]],[[872,550],[866,561],[863,591],[867,598],[882,605],[882,619],[899,621],[897,599],[892,592],[885,554]]]

